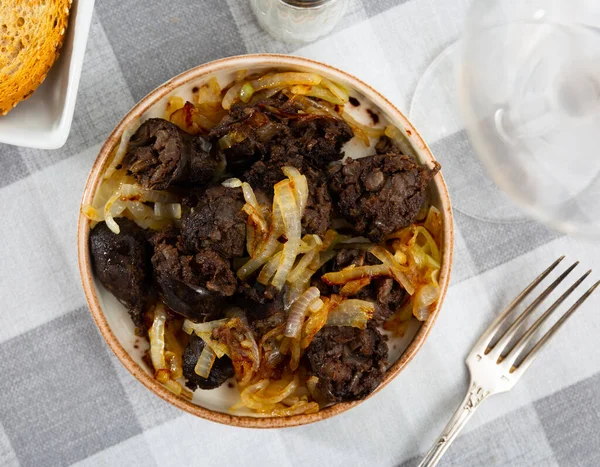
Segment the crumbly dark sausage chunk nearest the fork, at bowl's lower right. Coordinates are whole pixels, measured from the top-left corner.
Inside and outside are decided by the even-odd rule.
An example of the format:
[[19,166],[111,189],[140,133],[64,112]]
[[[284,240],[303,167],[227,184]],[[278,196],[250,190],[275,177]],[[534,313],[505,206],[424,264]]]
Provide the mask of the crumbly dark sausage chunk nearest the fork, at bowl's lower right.
[[374,327],[326,326],[306,349],[308,372],[329,402],[364,399],[379,386],[388,349]]

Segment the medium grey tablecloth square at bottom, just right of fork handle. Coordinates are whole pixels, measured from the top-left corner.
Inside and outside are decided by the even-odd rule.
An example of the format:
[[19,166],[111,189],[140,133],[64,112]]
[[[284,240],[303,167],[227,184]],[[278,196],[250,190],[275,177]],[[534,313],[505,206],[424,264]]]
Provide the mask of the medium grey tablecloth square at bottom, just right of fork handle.
[[[485,405],[479,410],[485,410]],[[402,467],[417,466],[421,459],[422,456],[411,458]],[[535,409],[528,406],[460,435],[439,465],[552,466],[556,460]]]

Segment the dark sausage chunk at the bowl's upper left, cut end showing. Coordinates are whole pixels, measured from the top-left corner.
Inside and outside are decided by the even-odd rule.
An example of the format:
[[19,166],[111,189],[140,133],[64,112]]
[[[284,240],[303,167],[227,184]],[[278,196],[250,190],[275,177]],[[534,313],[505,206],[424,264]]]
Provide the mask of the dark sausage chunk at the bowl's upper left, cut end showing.
[[123,166],[145,188],[165,190],[172,185],[207,183],[224,167],[223,156],[211,145],[163,120],[146,120],[129,141]]

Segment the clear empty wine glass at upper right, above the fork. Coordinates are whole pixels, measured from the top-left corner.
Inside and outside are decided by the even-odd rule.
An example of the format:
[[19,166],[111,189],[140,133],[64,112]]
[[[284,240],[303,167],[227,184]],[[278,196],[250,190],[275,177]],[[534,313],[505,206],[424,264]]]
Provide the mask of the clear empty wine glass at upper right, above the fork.
[[[438,134],[426,138],[439,138],[459,126],[457,106],[487,173],[523,212],[566,233],[600,236],[600,3],[473,2],[462,41],[419,82],[411,118],[428,120]],[[484,184],[475,199],[486,196],[472,205],[461,196],[467,205],[457,207],[523,218]]]

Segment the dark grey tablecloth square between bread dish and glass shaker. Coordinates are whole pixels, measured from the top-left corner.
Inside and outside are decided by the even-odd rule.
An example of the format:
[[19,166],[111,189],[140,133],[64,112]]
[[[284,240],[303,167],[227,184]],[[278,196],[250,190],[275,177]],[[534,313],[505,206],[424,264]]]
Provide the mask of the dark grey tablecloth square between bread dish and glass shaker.
[[188,68],[246,53],[221,0],[103,0],[96,11],[135,100]]

